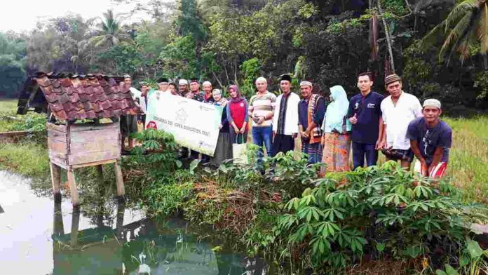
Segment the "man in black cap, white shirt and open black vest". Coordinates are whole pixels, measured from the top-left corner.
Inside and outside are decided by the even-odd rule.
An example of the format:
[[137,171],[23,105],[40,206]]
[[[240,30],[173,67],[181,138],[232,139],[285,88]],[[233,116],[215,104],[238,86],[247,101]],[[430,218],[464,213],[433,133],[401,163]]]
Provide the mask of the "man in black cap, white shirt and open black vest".
[[298,133],[298,103],[300,97],[292,93],[292,77],[281,76],[280,88],[283,92],[276,98],[273,116],[273,156],[279,152],[286,154],[294,149],[294,139]]

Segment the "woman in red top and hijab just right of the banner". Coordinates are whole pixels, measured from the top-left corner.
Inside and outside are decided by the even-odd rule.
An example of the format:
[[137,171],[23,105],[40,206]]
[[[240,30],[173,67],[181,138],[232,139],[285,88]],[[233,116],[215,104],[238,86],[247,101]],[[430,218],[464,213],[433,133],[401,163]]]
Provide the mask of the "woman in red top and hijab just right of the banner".
[[229,132],[231,143],[242,144],[248,140],[248,101],[240,95],[236,85],[229,86],[231,100],[227,104],[227,121],[229,121]]

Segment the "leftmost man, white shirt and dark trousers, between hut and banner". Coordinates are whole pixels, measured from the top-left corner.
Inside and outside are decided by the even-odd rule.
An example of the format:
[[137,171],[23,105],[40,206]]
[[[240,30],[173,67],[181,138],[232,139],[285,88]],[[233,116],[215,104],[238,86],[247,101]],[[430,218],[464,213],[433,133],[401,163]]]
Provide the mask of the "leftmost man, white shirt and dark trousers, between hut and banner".
[[[137,108],[141,113],[144,110],[140,107],[139,102],[141,101],[141,92],[132,86],[132,78],[130,75],[125,74],[123,76],[124,85],[130,87],[130,95],[132,95],[133,100],[135,101]],[[144,101],[142,99],[142,101]],[[137,115],[133,114],[124,114],[120,117],[120,124],[121,124],[121,134],[122,134],[122,144],[121,149],[123,153],[127,153],[134,147],[134,139],[130,137],[133,133],[137,133]],[[128,147],[126,147],[126,137],[128,139]]]

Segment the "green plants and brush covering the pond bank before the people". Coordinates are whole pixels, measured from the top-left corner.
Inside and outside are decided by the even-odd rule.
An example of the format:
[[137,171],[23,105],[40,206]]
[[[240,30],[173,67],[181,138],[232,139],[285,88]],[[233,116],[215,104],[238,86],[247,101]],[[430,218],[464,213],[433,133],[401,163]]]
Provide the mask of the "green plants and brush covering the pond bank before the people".
[[[212,170],[179,163],[171,135],[146,130],[137,137],[142,145],[124,167],[148,213],[208,224],[284,274],[337,274],[384,260],[425,274],[487,268],[488,250],[473,241],[471,224],[487,222],[488,209],[463,203],[447,180],[393,162],[319,178],[323,164],[307,165],[299,152],[264,158],[266,175],[252,161]],[[249,145],[251,158],[254,150]]]

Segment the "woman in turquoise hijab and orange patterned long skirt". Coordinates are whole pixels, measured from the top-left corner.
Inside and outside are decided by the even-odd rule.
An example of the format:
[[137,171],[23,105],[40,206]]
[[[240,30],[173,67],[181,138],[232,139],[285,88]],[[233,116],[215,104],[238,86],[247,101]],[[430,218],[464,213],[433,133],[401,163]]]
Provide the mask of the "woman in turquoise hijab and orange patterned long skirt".
[[349,101],[342,86],[330,88],[330,104],[325,111],[322,128],[324,172],[348,171],[351,151],[351,123],[346,118]]

